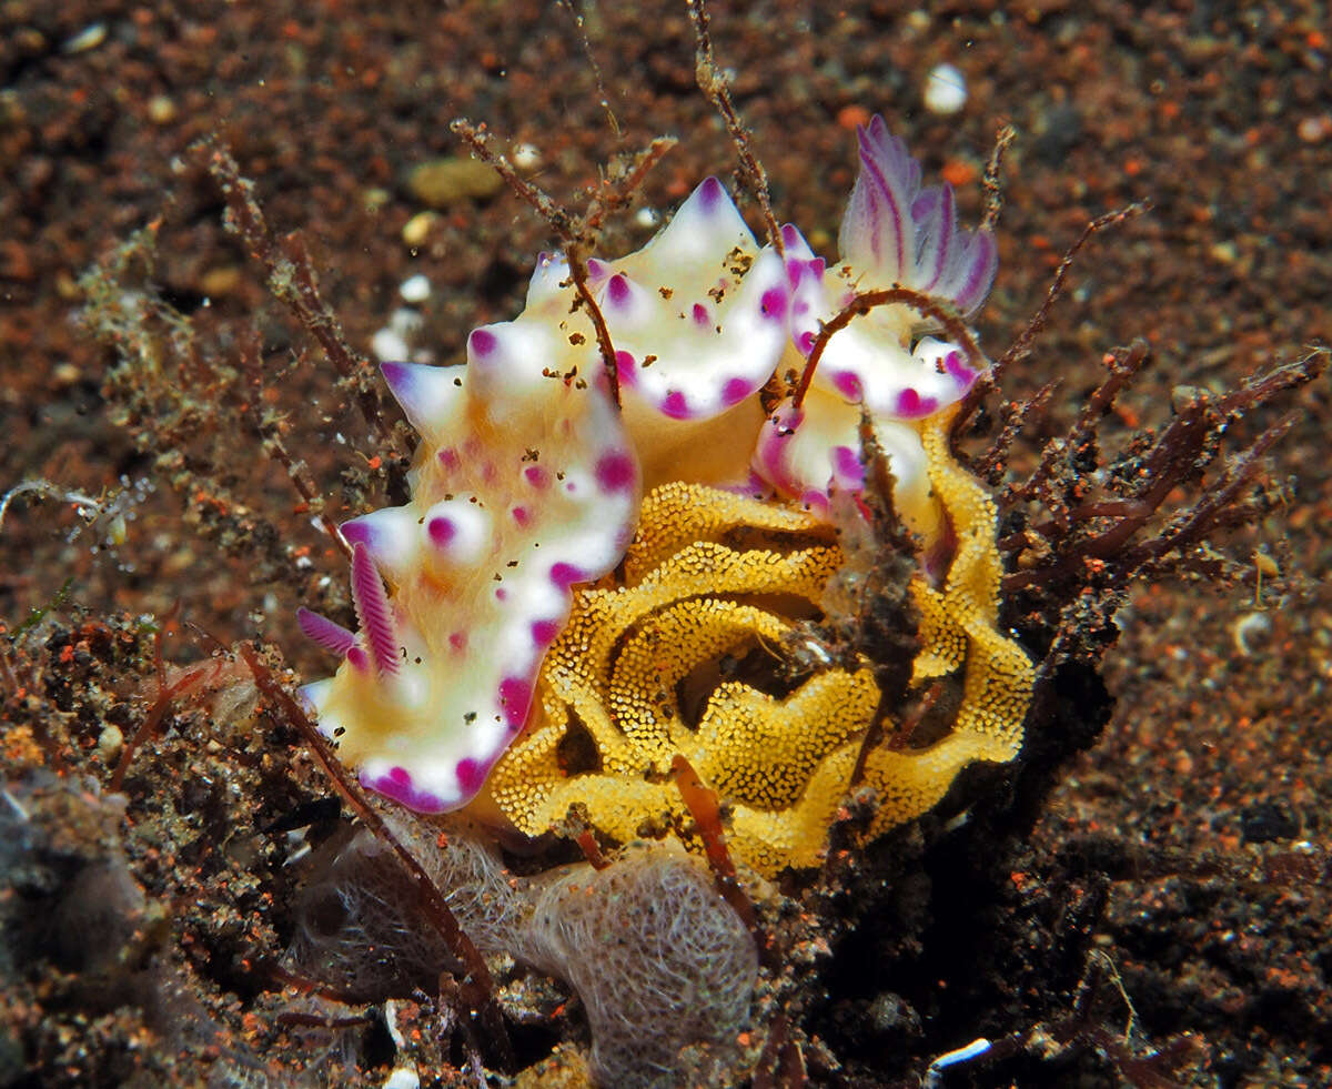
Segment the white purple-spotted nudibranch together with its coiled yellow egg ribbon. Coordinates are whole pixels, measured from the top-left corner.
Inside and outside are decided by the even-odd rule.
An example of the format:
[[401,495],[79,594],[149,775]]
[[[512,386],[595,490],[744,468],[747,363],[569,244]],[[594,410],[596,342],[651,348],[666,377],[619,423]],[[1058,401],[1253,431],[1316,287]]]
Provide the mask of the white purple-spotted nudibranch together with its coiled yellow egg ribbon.
[[412,501],[341,527],[360,632],[300,614],[344,656],[304,691],[365,785],[529,835],[578,805],[625,841],[682,827],[665,776],[683,754],[729,804],[741,859],[817,864],[879,691],[870,662],[797,684],[782,659],[848,563],[831,501],[864,485],[866,426],[928,544],[912,683],[955,692],[947,734],[859,762],[875,829],[1018,752],[1031,664],[996,627],[994,502],[947,441],[975,353],[895,304],[827,338],[798,406],[774,382],[858,293],[910,288],[960,320],[992,284],[994,238],[958,228],[951,189],[922,188],[882,118],[859,140],[834,266],[791,226],[783,253],[761,246],[715,178],[641,250],[587,262],[619,403],[549,254],[522,314],[472,333],[466,366],[384,365],[421,433]]

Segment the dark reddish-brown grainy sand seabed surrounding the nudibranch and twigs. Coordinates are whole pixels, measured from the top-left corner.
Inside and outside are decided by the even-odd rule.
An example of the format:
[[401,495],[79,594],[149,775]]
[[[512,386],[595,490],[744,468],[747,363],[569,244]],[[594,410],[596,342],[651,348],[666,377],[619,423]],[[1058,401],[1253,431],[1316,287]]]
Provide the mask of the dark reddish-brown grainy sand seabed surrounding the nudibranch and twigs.
[[[312,1077],[344,1084],[329,1057],[340,1048],[392,1061],[382,1028],[348,1029],[354,1046],[300,1036],[280,1021],[290,993],[268,993],[260,961],[289,932],[292,884],[284,837],[261,829],[328,796],[290,736],[229,734],[244,714],[209,704],[221,726],[181,722],[139,755],[123,815],[85,789],[109,783],[107,724],[128,738],[152,703],[148,618],[178,603],[218,640],[262,638],[318,676],[328,664],[292,616],[302,602],[336,603],[345,568],[257,438],[209,433],[208,406],[226,394],[201,385],[205,367],[173,379],[196,402],[178,443],[136,447],[104,398],[116,350],[80,324],[79,281],[155,224],[156,264],[131,282],[189,316],[213,362],[236,357],[237,330],[256,317],[272,375],[264,397],[286,414],[293,457],[333,494],[340,483],[376,487],[377,447],[328,399],[326,363],[224,232],[221,198],[190,146],[216,133],[232,148],[273,228],[304,237],[354,346],[369,350],[402,305],[398,286],[422,274],[433,292],[413,343],[456,358],[469,329],[517,312],[553,238],[507,192],[422,217],[409,174],[462,153],[452,118],[485,121],[510,152],[530,144],[530,177],[573,206],[610,156],[658,134],[679,145],[647,177],[647,208],[666,213],[707,173],[729,181],[734,169],[694,87],[683,5],[575,7],[618,136],[557,4],[0,4],[0,493],[39,478],[93,497],[121,481],[148,489],[113,550],[93,547],[105,521],[73,534],[73,503],[56,495],[16,499],[0,526],[0,622],[15,632],[60,598],[20,634],[0,676],[0,771],[25,813],[20,845],[0,855],[11,875],[0,880],[0,1085],[284,1085],[310,1064]],[[1016,126],[1000,272],[979,320],[994,355],[1090,218],[1151,200],[1148,214],[1082,253],[1004,389],[1020,397],[1060,378],[1048,423],[1058,433],[1099,381],[1104,353],[1144,337],[1152,363],[1110,422],[1123,437],[1166,422],[1176,386],[1232,387],[1332,339],[1327,17],[1305,3],[1225,13],[1043,0],[928,16],[888,3],[775,3],[718,5],[714,36],[778,214],[819,250],[835,244],[858,121],[882,112],[928,176],[954,182],[968,221],[996,126]],[[939,63],[968,85],[952,116],[922,104]],[[629,213],[606,252],[651,229]],[[840,977],[829,976],[805,1029],[842,1069],[811,1061],[817,1082],[910,1078],[986,1036],[1022,1046],[958,1068],[946,1085],[1160,1084],[1150,1064],[1116,1070],[1091,1018],[1068,1020],[1091,956],[1110,981],[1096,1026],[1123,1037],[1132,1018],[1135,1054],[1175,1041],[1179,1082],[1332,1084],[1328,383],[1240,422],[1237,442],[1279,411],[1295,425],[1269,475],[1289,478],[1289,501],[1221,544],[1245,562],[1269,556],[1271,579],[1299,575],[1305,592],[1200,580],[1134,588],[1104,671],[1114,718],[1027,849],[1006,859],[1006,896],[979,916],[954,905],[946,921],[956,933],[927,928],[927,944],[959,952],[931,960],[927,949],[910,980],[879,980],[878,992],[859,980],[839,994]],[[209,646],[186,630],[166,655],[198,660]],[[35,767],[61,777],[35,777]],[[938,887],[942,865],[931,871]],[[72,880],[89,884],[71,896]],[[32,905],[53,903],[65,913],[32,917]],[[1076,964],[1052,963],[1072,947]],[[926,985],[934,968],[951,975]],[[895,994],[923,1024],[883,1012]],[[424,1036],[409,1025],[406,1050],[426,1084],[449,1084],[448,1048],[430,1036],[438,1024],[421,1018]],[[1036,1024],[1063,1024],[1072,1038],[1043,1054],[1026,1034]],[[527,1060],[569,1032],[569,1021],[527,1032]]]

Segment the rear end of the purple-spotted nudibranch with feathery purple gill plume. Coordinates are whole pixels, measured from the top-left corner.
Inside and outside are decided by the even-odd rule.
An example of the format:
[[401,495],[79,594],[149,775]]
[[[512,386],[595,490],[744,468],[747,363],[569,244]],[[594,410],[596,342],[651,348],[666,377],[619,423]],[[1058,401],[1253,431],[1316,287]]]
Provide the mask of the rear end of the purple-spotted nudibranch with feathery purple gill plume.
[[[860,173],[838,236],[840,261],[830,270],[794,226],[783,228],[793,285],[791,343],[803,365],[823,322],[856,294],[911,288],[971,316],[990,293],[998,265],[988,230],[958,228],[952,189],[920,188],[920,165],[882,117],[858,129]],[[899,513],[916,533],[938,523],[919,421],[956,403],[972,370],[958,345],[920,337],[930,322],[907,304],[879,306],[836,331],[797,409],[770,413],[755,469],[777,490],[826,509],[829,490],[863,483],[862,407],[896,478]]]

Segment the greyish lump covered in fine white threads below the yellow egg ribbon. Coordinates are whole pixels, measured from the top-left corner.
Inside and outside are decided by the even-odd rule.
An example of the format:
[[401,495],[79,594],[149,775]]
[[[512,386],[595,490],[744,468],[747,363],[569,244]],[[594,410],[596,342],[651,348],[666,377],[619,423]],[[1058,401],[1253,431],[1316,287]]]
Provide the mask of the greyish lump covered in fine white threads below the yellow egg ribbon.
[[[746,1026],[758,951],[703,863],[639,844],[602,871],[577,863],[518,877],[466,827],[401,811],[389,824],[482,955],[511,956],[578,993],[597,1085],[714,1084],[690,1045],[725,1054]],[[369,832],[326,845],[317,875],[297,904],[289,959],[300,973],[377,1001],[460,969]]]

